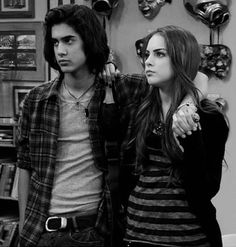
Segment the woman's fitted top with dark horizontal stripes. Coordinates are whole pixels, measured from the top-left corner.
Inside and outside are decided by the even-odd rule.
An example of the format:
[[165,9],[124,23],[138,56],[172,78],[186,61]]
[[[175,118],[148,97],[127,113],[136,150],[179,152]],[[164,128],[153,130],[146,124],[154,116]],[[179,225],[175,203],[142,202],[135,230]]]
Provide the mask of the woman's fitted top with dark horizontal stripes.
[[129,197],[125,239],[158,246],[207,247],[181,181],[169,181],[171,163],[160,139],[157,134],[148,138],[149,163]]

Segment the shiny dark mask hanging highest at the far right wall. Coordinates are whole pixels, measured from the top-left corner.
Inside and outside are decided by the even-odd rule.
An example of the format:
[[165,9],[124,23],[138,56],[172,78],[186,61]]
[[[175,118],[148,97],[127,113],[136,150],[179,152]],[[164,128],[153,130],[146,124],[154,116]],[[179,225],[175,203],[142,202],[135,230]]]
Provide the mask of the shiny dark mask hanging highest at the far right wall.
[[209,28],[216,28],[229,21],[227,0],[183,0],[187,11]]

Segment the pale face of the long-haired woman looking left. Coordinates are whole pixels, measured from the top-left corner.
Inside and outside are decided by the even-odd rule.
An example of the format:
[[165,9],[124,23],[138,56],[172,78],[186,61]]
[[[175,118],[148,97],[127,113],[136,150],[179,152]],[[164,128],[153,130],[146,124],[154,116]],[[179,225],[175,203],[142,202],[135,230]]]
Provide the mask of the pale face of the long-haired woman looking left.
[[145,75],[148,83],[159,88],[169,87],[174,72],[165,40],[160,34],[154,34],[149,40],[145,58]]

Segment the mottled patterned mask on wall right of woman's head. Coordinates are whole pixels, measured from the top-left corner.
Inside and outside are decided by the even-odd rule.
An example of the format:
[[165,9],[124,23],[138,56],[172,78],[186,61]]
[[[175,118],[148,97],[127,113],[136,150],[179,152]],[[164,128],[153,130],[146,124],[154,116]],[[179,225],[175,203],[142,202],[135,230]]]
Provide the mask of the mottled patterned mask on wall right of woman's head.
[[200,45],[200,67],[209,76],[219,79],[227,77],[230,71],[232,54],[229,47],[222,44]]

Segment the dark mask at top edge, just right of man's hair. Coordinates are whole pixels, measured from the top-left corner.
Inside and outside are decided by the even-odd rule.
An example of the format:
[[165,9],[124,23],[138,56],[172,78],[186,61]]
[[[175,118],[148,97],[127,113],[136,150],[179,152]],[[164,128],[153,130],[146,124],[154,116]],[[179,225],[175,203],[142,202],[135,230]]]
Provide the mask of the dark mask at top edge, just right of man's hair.
[[92,8],[103,16],[110,16],[112,9],[117,7],[119,0],[92,0]]

